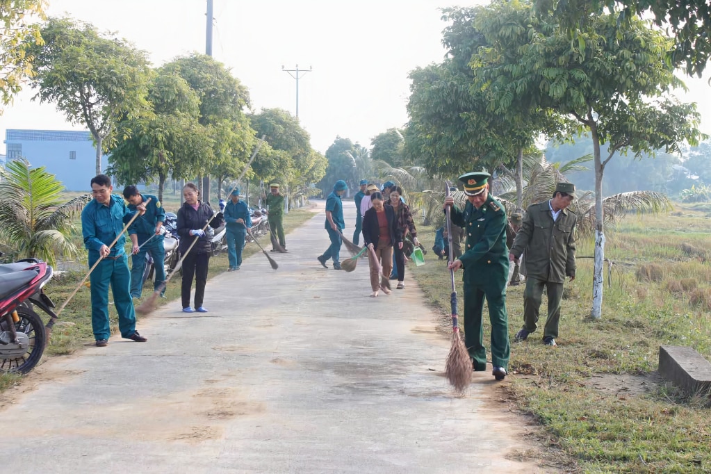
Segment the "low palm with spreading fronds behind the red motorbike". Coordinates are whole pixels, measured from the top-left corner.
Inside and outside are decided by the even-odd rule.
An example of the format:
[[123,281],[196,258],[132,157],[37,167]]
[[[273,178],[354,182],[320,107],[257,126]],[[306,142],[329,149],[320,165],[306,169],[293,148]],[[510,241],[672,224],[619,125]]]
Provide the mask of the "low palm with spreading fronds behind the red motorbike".
[[64,186],[40,168],[30,168],[25,159],[7,163],[1,170],[0,242],[13,254],[36,257],[51,265],[56,256],[73,257],[77,247],[70,242],[75,230],[70,218],[84,208],[92,196],[85,194],[63,203]]

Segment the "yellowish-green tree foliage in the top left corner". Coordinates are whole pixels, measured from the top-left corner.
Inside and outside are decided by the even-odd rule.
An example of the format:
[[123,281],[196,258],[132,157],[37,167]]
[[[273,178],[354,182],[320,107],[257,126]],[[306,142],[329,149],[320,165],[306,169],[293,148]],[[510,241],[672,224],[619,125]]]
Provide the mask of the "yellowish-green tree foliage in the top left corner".
[[[47,0],[0,1],[0,104],[7,105],[20,92],[22,82],[32,75],[30,45],[42,45],[37,23],[26,17],[44,19]],[[0,115],[3,110],[0,107]]]

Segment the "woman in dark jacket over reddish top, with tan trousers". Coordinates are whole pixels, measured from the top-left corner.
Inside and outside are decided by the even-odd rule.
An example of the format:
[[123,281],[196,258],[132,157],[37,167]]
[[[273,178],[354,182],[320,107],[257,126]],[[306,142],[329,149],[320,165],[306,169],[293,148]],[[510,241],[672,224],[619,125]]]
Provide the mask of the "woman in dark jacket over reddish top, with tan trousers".
[[[395,235],[395,211],[383,203],[383,194],[379,192],[372,193],[370,200],[373,207],[365,211],[363,217],[363,240],[369,249],[375,251],[375,257],[383,266],[383,275],[387,278],[392,271],[392,247],[400,242]],[[378,262],[373,262],[370,258],[368,263],[370,264],[370,287],[373,289],[370,297],[378,296],[379,290],[383,290],[386,295],[390,294],[390,290],[380,284]]]

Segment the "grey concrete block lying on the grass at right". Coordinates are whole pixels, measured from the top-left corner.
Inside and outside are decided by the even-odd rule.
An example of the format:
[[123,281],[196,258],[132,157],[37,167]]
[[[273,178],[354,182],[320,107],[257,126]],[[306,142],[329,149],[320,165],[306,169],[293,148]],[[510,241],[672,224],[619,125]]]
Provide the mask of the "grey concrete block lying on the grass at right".
[[690,394],[711,392],[711,363],[692,348],[660,346],[659,375]]

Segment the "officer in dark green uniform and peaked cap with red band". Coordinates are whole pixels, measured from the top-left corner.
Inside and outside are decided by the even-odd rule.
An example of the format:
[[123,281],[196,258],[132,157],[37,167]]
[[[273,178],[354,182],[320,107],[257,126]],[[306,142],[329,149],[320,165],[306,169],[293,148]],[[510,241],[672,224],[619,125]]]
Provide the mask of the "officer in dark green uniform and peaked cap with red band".
[[464,183],[467,203],[464,211],[445,198],[451,206],[451,222],[464,227],[466,249],[449,264],[454,271],[464,269],[464,336],[475,371],[486,370],[486,348],[483,345],[482,314],[484,298],[491,321],[492,375],[506,377],[510,347],[506,314],[508,258],[506,249],[506,212],[501,203],[488,193],[488,173],[466,173]]

